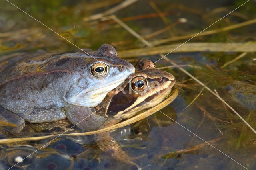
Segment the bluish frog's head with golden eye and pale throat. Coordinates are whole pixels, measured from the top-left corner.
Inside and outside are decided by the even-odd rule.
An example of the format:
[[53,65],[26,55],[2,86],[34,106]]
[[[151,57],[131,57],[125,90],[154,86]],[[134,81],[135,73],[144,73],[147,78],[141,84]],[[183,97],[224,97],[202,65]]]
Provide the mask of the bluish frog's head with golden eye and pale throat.
[[[135,72],[128,61],[120,59],[112,45],[103,44],[96,51],[87,51],[86,66],[77,78],[76,93],[70,93],[70,104],[95,107],[106,94]],[[83,54],[84,55],[84,54]]]

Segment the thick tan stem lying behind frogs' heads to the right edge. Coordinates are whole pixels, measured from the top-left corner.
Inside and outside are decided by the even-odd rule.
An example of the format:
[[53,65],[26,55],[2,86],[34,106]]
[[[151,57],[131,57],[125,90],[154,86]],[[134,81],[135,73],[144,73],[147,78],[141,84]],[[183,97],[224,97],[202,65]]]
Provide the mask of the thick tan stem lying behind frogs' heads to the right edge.
[[[130,31],[129,31],[130,32]],[[146,41],[146,40],[143,40]],[[142,42],[143,42],[142,41]],[[148,44],[148,41],[146,43]],[[119,51],[118,55],[121,58],[137,57],[143,55],[157,55],[169,53],[187,53],[187,52],[256,52],[256,43],[186,43],[176,49],[180,44],[162,45],[158,47],[140,48],[140,49],[129,49]]]

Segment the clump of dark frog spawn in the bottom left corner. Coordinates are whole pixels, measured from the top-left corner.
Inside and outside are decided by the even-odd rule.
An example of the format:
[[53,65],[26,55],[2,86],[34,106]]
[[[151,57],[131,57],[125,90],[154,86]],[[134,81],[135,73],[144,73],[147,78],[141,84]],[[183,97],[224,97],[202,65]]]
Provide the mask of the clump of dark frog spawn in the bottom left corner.
[[58,139],[47,149],[37,150],[34,147],[7,148],[2,153],[0,169],[71,169],[74,157],[82,154],[86,149],[71,140]]

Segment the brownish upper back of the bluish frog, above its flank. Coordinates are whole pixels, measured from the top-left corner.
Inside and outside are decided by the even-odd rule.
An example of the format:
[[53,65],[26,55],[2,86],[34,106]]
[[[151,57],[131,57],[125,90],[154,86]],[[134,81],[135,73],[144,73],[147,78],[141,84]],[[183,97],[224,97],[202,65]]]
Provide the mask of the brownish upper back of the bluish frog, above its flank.
[[[74,51],[75,52],[75,51]],[[0,60],[0,84],[33,74],[50,74],[53,71],[74,71],[81,66],[79,59],[89,57],[79,53],[15,53]],[[2,57],[1,57],[2,58]],[[72,62],[73,61],[73,62]],[[73,66],[70,66],[73,63]],[[82,68],[83,69],[83,68]]]

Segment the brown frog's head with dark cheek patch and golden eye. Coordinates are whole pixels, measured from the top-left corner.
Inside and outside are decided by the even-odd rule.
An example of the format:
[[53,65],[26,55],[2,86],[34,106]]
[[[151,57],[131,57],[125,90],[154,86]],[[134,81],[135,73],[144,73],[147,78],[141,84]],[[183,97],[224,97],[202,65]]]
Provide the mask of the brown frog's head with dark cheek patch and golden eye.
[[116,114],[113,117],[129,118],[162,102],[174,84],[172,74],[156,69],[149,59],[140,59],[136,64],[136,73],[124,82],[123,90],[113,95],[108,113]]

